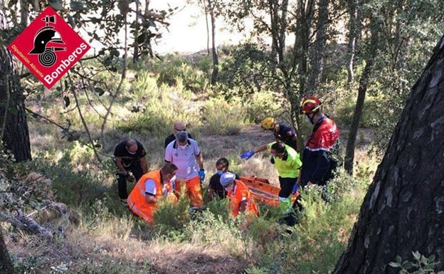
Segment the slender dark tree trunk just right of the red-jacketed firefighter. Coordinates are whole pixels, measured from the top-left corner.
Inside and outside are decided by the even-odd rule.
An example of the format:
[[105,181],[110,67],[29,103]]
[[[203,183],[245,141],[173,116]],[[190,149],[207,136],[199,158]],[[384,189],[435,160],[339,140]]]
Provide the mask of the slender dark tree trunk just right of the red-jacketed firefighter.
[[369,85],[369,79],[371,71],[374,67],[374,59],[378,51],[378,30],[376,29],[376,23],[374,19],[371,20],[371,42],[369,57],[366,59],[366,65],[362,72],[361,79],[359,80],[358,98],[354,107],[353,120],[351,120],[351,126],[349,131],[349,138],[347,139],[347,147],[345,149],[344,157],[344,169],[349,174],[353,174],[354,165],[354,147],[356,144],[356,135],[358,133],[359,122],[361,121],[362,110],[364,109],[364,101],[366,97],[367,87]]

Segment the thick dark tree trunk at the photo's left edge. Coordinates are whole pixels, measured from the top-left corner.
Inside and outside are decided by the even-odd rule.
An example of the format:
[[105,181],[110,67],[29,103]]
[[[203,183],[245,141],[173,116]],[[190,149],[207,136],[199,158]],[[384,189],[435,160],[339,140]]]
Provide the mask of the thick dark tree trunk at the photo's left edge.
[[[0,1],[0,30],[6,30],[3,4]],[[25,98],[16,78],[16,64],[7,45],[0,43],[0,127],[5,148],[17,162],[31,159]]]

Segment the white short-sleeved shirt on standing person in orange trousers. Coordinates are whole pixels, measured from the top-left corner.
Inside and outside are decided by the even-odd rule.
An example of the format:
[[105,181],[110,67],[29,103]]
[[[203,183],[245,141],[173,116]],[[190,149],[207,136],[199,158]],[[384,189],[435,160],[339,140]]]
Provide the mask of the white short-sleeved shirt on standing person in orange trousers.
[[165,161],[176,165],[176,178],[189,180],[199,176],[199,166],[196,156],[201,154],[199,145],[194,139],[188,139],[185,149],[181,149],[176,141],[170,142],[165,149]]

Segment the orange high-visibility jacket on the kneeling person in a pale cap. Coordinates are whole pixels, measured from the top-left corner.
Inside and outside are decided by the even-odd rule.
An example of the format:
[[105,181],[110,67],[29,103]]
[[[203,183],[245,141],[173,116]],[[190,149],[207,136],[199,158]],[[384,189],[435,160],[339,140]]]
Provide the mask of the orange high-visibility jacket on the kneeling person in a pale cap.
[[253,200],[253,196],[251,195],[250,190],[247,186],[245,186],[245,184],[243,184],[242,181],[239,181],[237,179],[235,179],[234,181],[236,183],[234,189],[228,191],[227,194],[227,197],[230,200],[231,214],[233,214],[233,216],[238,216],[240,203],[242,201],[246,201],[247,206],[245,209],[245,213],[253,214],[257,217],[258,207]]

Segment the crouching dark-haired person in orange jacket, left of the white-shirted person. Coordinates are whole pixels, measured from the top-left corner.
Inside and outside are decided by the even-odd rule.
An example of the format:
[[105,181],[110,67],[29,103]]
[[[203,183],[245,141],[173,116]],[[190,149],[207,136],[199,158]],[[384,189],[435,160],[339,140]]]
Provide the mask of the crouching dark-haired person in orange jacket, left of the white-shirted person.
[[148,223],[153,223],[154,211],[159,199],[176,202],[176,196],[173,193],[174,186],[171,184],[171,178],[176,175],[176,170],[177,167],[174,164],[167,163],[162,169],[144,174],[128,196],[129,209]]

